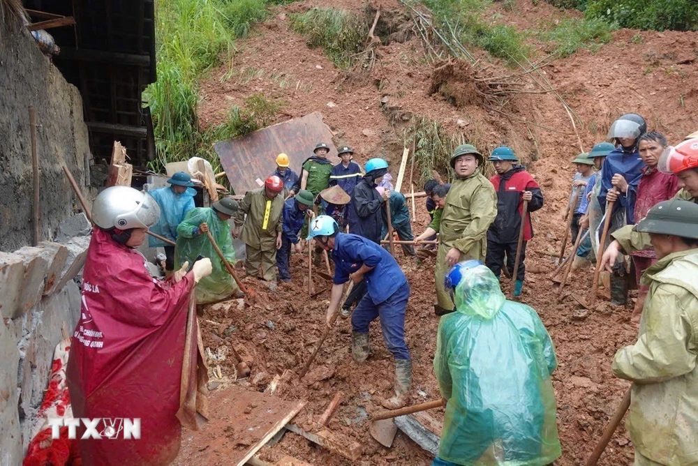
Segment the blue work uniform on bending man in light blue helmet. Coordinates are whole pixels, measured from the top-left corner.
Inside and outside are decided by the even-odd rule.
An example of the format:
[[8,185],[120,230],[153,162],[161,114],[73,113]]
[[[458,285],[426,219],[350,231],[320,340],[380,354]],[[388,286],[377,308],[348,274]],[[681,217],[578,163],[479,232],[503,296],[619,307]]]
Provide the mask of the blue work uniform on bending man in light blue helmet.
[[362,264],[373,267],[364,275],[368,292],[352,313],[352,330],[369,333],[369,324],[380,318],[385,346],[395,359],[410,359],[405,343],[405,312],[410,297],[407,277],[395,258],[373,241],[357,234],[338,233],[332,251],[335,285],[349,280]]

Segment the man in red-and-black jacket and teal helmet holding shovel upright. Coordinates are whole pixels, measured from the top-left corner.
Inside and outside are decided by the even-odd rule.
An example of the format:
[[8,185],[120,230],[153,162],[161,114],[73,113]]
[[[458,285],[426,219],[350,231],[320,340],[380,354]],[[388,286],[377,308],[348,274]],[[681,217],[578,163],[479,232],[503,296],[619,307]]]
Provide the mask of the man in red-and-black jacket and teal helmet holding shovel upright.
[[[533,238],[533,226],[530,223],[530,213],[543,206],[543,193],[533,176],[519,165],[519,159],[514,151],[507,146],[497,147],[492,151],[489,160],[494,165],[496,175],[492,176],[492,186],[497,192],[497,217],[487,230],[487,259],[485,264],[499,278],[504,266],[504,256],[507,256],[507,269],[514,276],[514,262],[517,257],[519,232],[523,227],[523,242],[519,251],[521,260],[514,283],[514,296],[521,296],[523,275],[526,273],[526,243]],[[523,202],[526,201],[526,221],[521,225]]]

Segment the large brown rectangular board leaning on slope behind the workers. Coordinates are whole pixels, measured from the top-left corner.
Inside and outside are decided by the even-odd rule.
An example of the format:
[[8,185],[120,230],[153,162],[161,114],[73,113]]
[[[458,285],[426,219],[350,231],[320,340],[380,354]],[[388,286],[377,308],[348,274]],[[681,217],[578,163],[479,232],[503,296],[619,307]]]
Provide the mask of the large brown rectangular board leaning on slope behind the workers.
[[300,175],[302,163],[313,155],[318,142],[329,146],[327,158],[334,163],[337,151],[332,144],[332,131],[322,122],[322,114],[313,112],[242,137],[216,142],[214,150],[230,187],[240,195],[258,188],[255,179],[265,180],[276,170],[279,153],[288,154],[290,167]]

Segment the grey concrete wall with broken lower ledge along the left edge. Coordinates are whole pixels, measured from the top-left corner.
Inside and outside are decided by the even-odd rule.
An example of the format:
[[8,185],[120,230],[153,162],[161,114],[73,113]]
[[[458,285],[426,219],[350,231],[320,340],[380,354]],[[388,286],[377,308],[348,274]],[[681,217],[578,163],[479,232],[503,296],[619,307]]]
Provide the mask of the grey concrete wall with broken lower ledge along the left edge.
[[[29,105],[36,110],[40,238],[32,239]],[[88,202],[88,134],[82,100],[25,30],[0,20],[0,466],[21,465],[61,329],[80,313],[89,236],[62,165]],[[82,214],[80,214],[82,215]],[[63,225],[61,227],[61,224]],[[89,226],[89,224],[88,224]],[[59,234],[59,230],[61,230]],[[61,243],[54,243],[59,238]]]

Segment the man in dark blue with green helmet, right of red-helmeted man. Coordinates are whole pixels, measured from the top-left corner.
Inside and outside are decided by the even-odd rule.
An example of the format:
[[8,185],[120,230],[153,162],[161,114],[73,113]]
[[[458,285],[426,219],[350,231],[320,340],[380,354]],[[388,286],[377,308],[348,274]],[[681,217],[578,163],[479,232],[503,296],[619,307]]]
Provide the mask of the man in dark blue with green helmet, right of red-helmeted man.
[[282,282],[290,282],[290,257],[291,245],[295,247],[297,253],[300,253],[303,248],[298,241],[298,232],[306,223],[306,217],[314,215],[313,209],[309,209],[313,205],[313,193],[309,190],[302,190],[292,199],[283,203],[283,227],[281,230],[281,248],[276,251],[276,266],[279,268],[279,280]]

